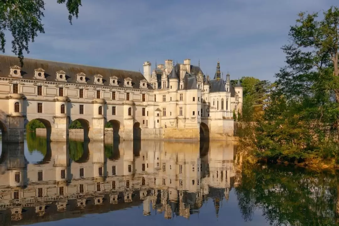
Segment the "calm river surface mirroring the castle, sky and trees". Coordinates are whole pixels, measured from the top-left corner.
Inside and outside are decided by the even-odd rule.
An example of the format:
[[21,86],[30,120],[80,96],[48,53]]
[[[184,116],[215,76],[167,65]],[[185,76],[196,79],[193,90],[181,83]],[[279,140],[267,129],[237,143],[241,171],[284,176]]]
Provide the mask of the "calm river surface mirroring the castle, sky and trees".
[[[233,143],[2,144],[0,225],[337,225],[339,177]],[[337,206],[338,204],[338,206]]]

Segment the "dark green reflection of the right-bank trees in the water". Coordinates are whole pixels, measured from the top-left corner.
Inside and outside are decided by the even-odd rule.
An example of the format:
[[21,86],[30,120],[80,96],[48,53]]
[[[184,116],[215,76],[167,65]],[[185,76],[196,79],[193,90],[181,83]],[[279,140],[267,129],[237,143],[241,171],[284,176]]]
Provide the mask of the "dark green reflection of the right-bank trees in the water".
[[335,225],[337,182],[330,173],[243,165],[236,187],[245,221],[256,207],[271,225]]

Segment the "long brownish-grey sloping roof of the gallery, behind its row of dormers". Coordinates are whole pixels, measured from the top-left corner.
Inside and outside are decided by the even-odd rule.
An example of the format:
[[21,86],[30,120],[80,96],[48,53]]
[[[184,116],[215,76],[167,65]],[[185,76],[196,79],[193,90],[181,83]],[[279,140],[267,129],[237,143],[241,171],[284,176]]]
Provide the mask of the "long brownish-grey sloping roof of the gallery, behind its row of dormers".
[[[19,59],[14,56],[0,55],[0,77],[8,77],[9,67],[20,65]],[[140,71],[119,70],[112,68],[92,67],[86,65],[78,65],[71,63],[62,63],[47,60],[24,59],[24,65],[21,68],[21,75],[24,79],[34,79],[34,70],[42,68],[45,70],[46,81],[56,81],[56,72],[63,70],[66,72],[67,83],[77,83],[77,74],[83,72],[86,74],[87,84],[93,85],[94,75],[100,74],[103,76],[103,86],[109,86],[110,77],[118,77],[119,86],[123,87],[124,79],[131,78],[133,88],[139,88],[140,81],[145,77]],[[61,82],[62,81],[58,81]],[[95,84],[98,85],[98,84]],[[147,84],[148,89],[153,89],[150,84]]]

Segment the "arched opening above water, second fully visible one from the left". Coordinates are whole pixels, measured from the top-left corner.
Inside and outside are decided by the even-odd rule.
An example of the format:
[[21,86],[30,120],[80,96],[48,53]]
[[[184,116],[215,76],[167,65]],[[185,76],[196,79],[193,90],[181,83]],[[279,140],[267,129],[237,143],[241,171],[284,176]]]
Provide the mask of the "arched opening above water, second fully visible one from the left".
[[89,141],[89,122],[85,119],[76,119],[69,123],[68,138],[73,141]]

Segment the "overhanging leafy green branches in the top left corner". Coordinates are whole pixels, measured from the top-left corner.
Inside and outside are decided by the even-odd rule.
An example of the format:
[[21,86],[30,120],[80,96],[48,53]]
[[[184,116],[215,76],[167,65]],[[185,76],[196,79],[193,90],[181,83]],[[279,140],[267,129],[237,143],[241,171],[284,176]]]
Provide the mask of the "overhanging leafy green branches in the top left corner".
[[[68,20],[78,18],[81,0],[57,0],[57,3],[66,3]],[[12,52],[20,59],[23,65],[23,50],[29,53],[28,44],[34,42],[38,33],[45,33],[41,22],[44,17],[44,0],[1,0],[0,3],[0,50],[5,52],[5,30],[13,36]]]

